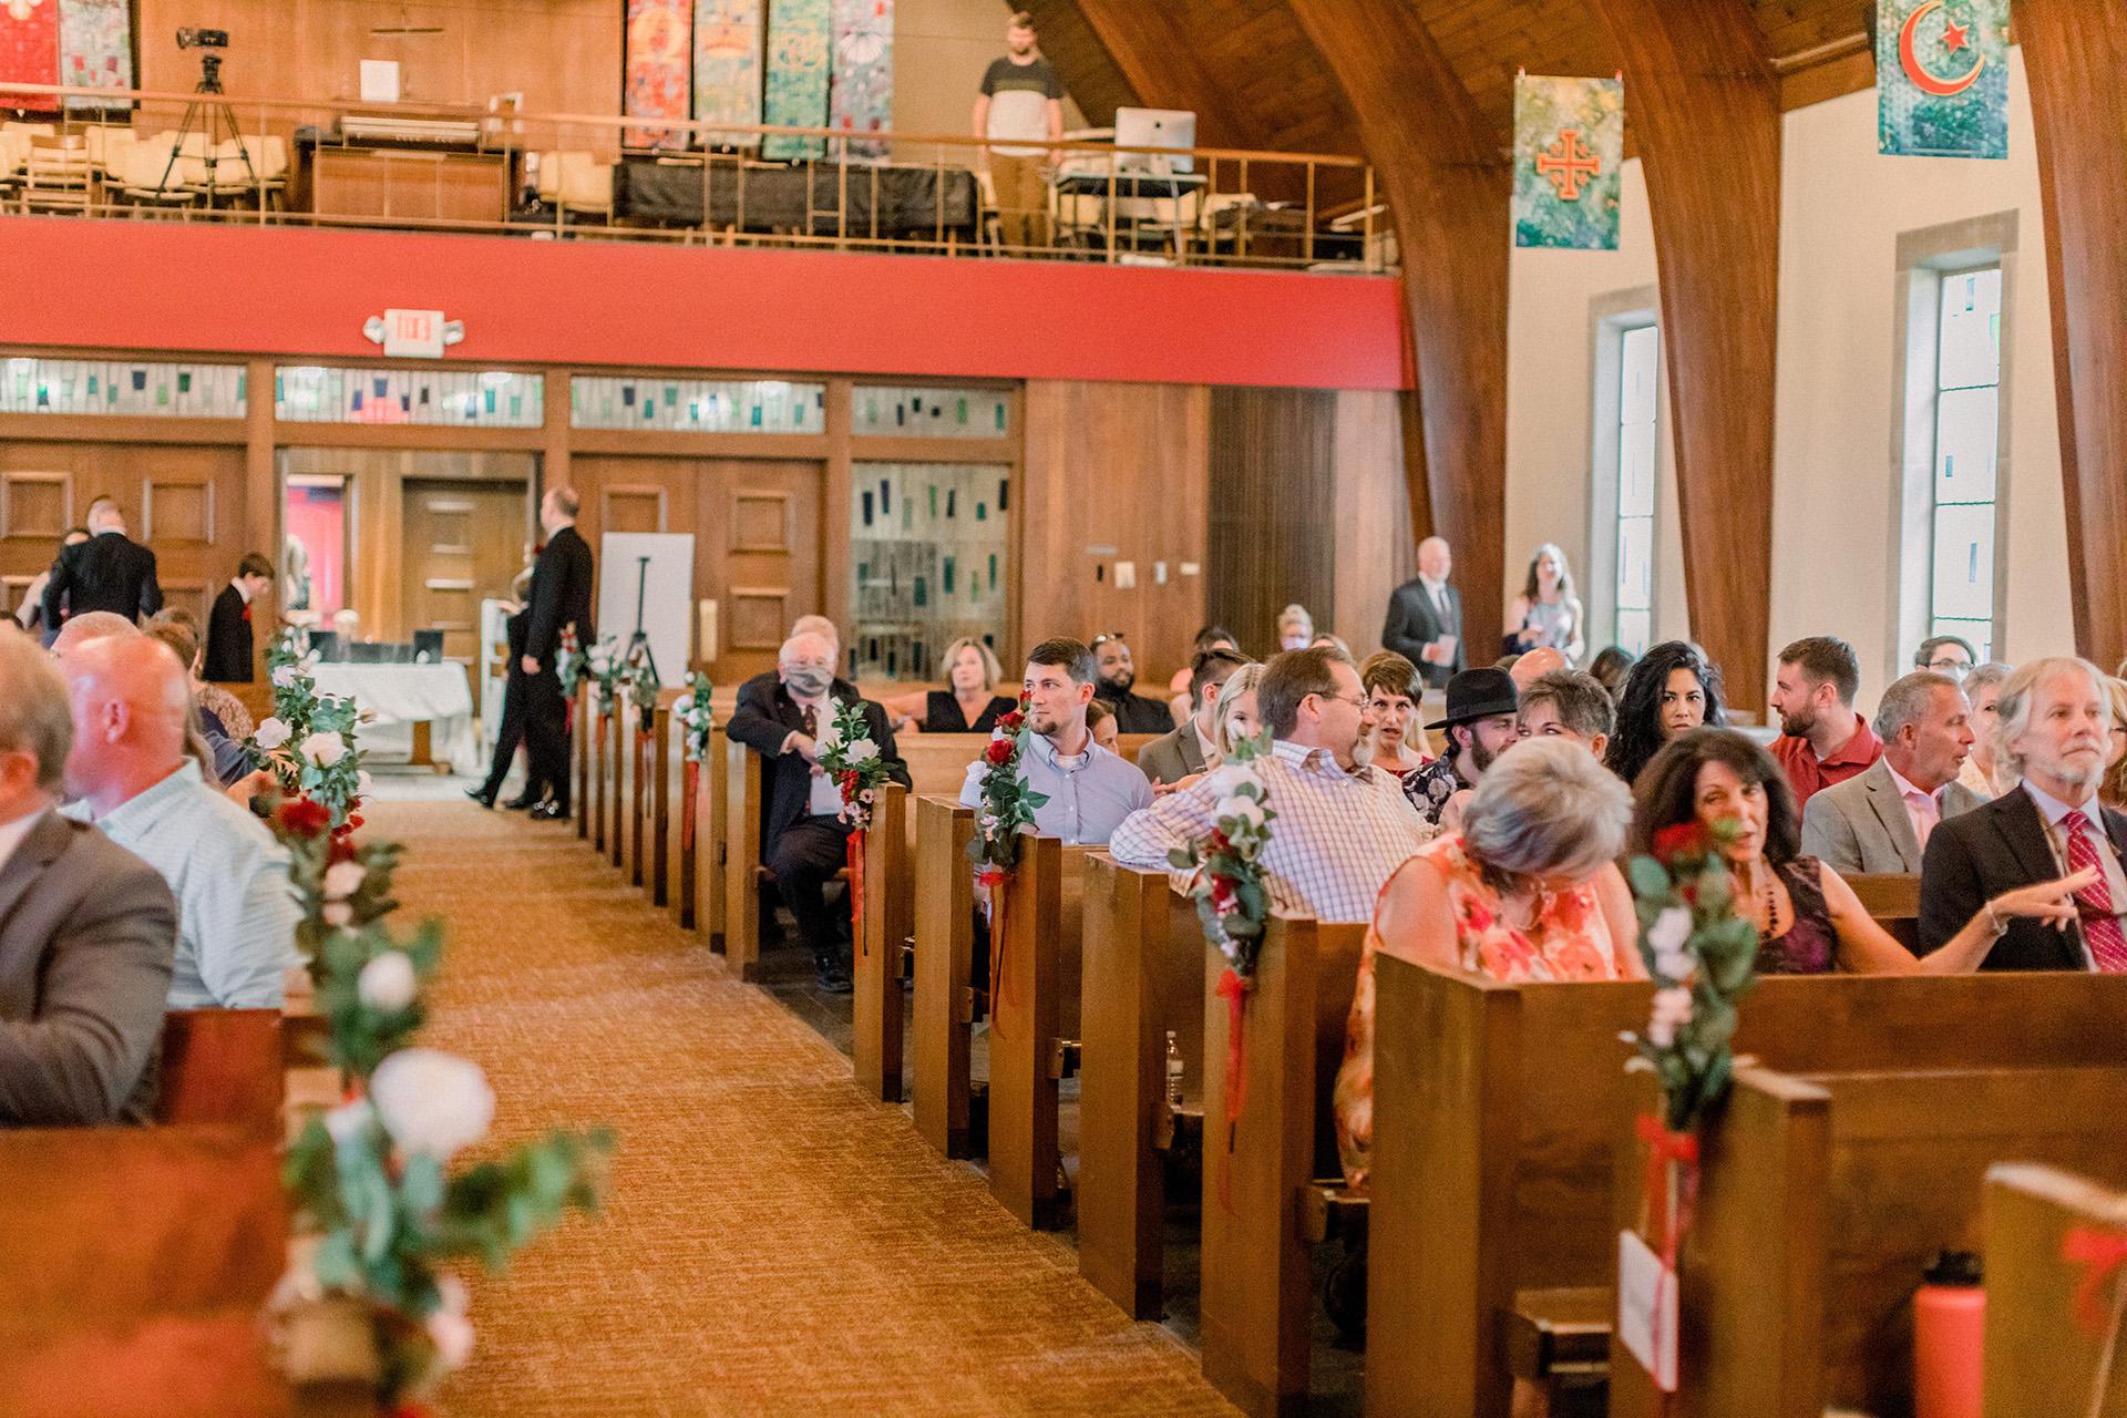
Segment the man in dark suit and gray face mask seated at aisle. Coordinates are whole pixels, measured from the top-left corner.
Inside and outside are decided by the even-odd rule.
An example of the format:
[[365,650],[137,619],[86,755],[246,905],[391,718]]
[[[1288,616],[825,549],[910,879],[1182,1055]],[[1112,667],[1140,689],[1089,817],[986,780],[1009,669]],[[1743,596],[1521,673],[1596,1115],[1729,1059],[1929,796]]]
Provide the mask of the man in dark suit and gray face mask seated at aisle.
[[725,733],[766,759],[761,865],[798,918],[819,986],[832,993],[851,989],[849,921],[827,910],[825,899],[825,887],[847,857],[849,825],[840,821],[842,797],[834,780],[819,767],[819,738],[842,704],[864,706],[866,733],[878,744],[878,757],[889,776],[908,787],[887,710],[834,676],[834,646],[825,636],[808,631],[785,640],[776,653],[774,693],[766,702],[742,693],[725,725]]

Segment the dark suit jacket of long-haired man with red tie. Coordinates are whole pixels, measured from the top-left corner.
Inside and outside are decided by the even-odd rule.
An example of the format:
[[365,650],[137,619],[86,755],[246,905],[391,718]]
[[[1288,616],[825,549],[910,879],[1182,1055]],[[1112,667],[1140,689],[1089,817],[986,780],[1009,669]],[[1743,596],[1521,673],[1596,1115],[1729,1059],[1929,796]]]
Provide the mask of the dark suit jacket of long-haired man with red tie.
[[[2127,816],[2104,810],[2112,850],[2127,859]],[[2046,844],[2046,818],[2021,787],[1991,804],[1944,818],[1921,859],[1921,955],[1961,931],[2004,891],[2061,876]],[[2055,931],[2044,921],[2012,921],[1980,969],[2089,969],[2082,927]]]

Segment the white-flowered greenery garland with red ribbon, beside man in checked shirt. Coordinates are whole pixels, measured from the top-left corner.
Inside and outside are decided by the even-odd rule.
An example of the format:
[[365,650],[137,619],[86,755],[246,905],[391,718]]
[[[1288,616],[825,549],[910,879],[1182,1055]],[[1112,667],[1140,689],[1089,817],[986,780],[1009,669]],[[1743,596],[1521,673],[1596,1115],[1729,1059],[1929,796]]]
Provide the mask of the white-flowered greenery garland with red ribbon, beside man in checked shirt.
[[[1270,757],[1270,729],[1261,738],[1234,744],[1234,757],[1221,763],[1210,787],[1212,827],[1189,846],[1168,853],[1168,865],[1189,872],[1189,895],[1204,923],[1204,940],[1225,957],[1219,974],[1219,997],[1225,999],[1225,1146],[1234,1150],[1234,1133],[1246,1105],[1246,1001],[1255,986],[1255,959],[1263,950],[1263,925],[1270,921],[1270,880],[1263,872],[1263,848],[1270,846],[1270,789],[1257,767]],[[1219,1199],[1234,1208],[1232,1178],[1219,1176]]]

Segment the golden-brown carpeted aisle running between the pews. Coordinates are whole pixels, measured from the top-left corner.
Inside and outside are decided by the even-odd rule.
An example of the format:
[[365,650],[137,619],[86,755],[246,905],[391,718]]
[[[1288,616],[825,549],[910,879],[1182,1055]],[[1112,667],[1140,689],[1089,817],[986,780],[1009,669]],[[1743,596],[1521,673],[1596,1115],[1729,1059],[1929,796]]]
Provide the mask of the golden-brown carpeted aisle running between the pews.
[[572,831],[457,804],[368,816],[408,848],[406,923],[447,921],[423,1042],[487,1069],[498,1140],[621,1137],[602,1220],[470,1278],[453,1418],[1232,1412]]

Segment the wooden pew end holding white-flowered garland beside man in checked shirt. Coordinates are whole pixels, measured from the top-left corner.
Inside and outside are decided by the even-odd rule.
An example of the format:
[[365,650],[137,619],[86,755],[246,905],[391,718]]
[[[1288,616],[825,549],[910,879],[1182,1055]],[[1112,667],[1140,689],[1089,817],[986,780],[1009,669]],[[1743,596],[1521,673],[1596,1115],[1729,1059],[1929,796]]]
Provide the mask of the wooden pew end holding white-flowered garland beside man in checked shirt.
[[1363,938],[1363,925],[1272,916],[1246,999],[1246,1108],[1227,1150],[1227,1003],[1217,995],[1225,957],[1198,935],[1204,1057],[1212,1061],[1204,1088],[1204,1378],[1244,1414],[1306,1405],[1317,1301],[1304,1201],[1314,1178],[1336,1171],[1329,1099]]

